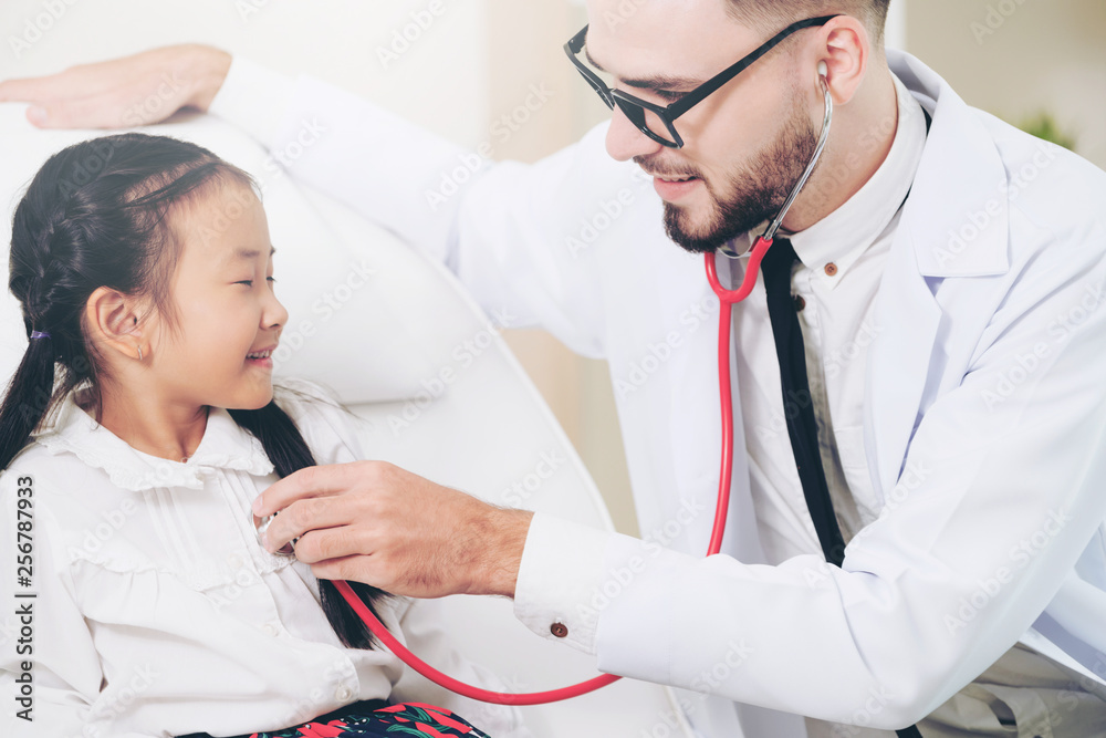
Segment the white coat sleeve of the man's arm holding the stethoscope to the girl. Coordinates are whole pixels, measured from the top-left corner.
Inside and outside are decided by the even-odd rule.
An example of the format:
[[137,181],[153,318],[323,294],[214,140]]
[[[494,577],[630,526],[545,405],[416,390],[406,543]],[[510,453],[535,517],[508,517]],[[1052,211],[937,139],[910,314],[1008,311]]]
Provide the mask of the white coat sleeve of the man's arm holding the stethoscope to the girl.
[[[577,619],[567,640],[614,674],[884,729],[932,711],[1045,611],[1106,519],[1106,233],[1082,222],[1050,238],[1013,216],[1041,248],[1004,277],[970,371],[921,416],[907,474],[842,569],[700,560],[535,519],[517,609],[545,637]],[[581,540],[591,563],[572,558]]]

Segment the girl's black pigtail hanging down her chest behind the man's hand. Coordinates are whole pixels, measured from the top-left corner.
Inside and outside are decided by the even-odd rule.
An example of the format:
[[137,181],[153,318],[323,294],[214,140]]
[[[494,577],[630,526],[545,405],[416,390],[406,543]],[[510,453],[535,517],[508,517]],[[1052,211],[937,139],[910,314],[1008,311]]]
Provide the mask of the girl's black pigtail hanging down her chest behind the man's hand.
[[[269,460],[273,462],[273,467],[281,478],[304,467],[315,466],[315,458],[311,455],[311,449],[307,448],[307,443],[300,434],[300,429],[295,427],[292,418],[276,405],[275,399],[257,410],[231,409],[227,412],[238,425],[252,433],[261,441]],[[388,596],[388,593],[362,582],[349,582],[349,586],[365,602],[372,613],[379,617],[375,606],[376,602]],[[334,586],[334,582],[328,579],[320,579],[319,597],[326,620],[330,621],[331,627],[334,628],[342,643],[351,648],[373,647],[372,631],[342,597],[337,588]]]

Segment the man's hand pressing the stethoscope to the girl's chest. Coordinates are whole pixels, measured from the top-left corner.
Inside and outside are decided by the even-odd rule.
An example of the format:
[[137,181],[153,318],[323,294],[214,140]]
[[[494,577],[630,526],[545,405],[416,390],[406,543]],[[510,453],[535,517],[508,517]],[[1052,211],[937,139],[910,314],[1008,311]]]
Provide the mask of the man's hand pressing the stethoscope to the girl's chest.
[[488,505],[385,461],[307,467],[253,502],[280,512],[265,533],[320,579],[348,579],[393,594],[514,595],[533,513]]

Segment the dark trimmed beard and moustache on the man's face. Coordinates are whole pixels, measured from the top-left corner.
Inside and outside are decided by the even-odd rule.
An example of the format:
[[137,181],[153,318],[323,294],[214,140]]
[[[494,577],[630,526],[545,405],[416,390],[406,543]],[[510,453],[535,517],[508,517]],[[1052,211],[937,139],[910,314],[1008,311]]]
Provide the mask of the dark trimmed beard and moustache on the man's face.
[[[795,183],[803,176],[817,148],[817,134],[799,105],[776,139],[752,162],[734,168],[722,183],[728,190],[720,197],[719,186],[698,173],[681,171],[700,178],[710,197],[707,221],[696,224],[689,209],[665,202],[665,231],[677,246],[691,253],[709,253],[738,236],[775,218]],[[635,159],[637,160],[637,159]],[[637,162],[639,165],[643,162]],[[650,167],[650,171],[669,174]]]

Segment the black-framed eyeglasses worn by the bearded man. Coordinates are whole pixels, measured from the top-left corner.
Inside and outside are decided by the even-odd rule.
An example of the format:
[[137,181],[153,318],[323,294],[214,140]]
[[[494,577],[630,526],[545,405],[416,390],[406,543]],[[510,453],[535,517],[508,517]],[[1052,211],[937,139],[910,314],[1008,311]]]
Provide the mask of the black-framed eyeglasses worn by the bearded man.
[[607,107],[614,110],[615,105],[617,105],[626,117],[629,118],[630,123],[636,125],[641,133],[653,141],[668,146],[669,148],[682,148],[684,139],[680,137],[680,134],[676,132],[676,118],[687,113],[689,110],[706,100],[708,95],[749,69],[753,62],[770,52],[776,46],[776,44],[795,31],[825,25],[834,18],[837,18],[837,15],[810,18],[805,21],[792,23],[769,39],[763,45],[739,61],[737,64],[722,70],[670,105],[656,105],[627,94],[622,90],[612,90],[605,82],[603,82],[603,80],[599,79],[597,74],[595,74],[595,72],[585,66],[580,60],[580,52],[583,51],[584,40],[587,38],[586,25],[580,33],[572,37],[572,39],[568,40],[568,43],[564,44],[564,53],[568,55],[568,59],[572,60],[576,70],[581,73],[587,84],[589,84],[592,89],[598,93],[599,97],[604,103],[606,103]]

